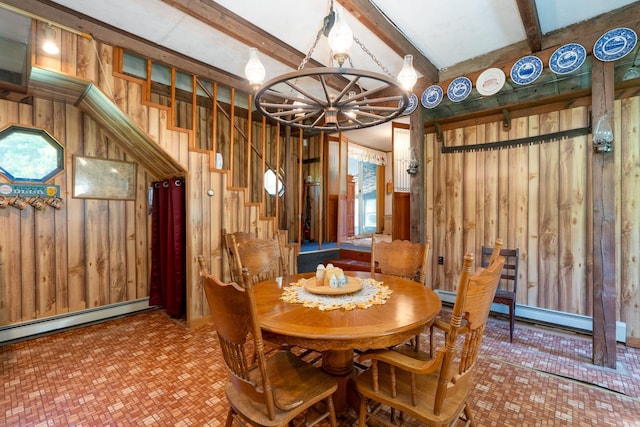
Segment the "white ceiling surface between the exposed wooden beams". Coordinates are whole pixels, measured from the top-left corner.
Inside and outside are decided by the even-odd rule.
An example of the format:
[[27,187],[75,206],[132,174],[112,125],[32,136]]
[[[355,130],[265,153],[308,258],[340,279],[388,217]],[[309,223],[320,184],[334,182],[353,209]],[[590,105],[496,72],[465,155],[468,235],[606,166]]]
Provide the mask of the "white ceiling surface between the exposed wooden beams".
[[[546,34],[572,24],[638,3],[631,0],[530,1],[535,4],[543,38]],[[330,2],[331,0],[216,1],[249,24],[303,54],[313,46],[322,20],[329,12]],[[522,3],[522,0],[355,0],[346,3],[364,3],[366,7],[377,8],[419,54],[441,73],[446,73],[451,67],[473,58],[526,43],[527,34],[518,2]],[[20,2],[8,3],[17,3],[16,6],[20,7]],[[206,10],[207,5],[212,3],[211,0],[54,0],[47,3],[64,6],[75,11],[74,13],[86,15],[235,76],[243,76],[248,48],[252,47],[250,43],[235,40],[224,31],[174,7],[187,5],[193,10]],[[336,6],[339,3],[344,2],[336,0]],[[0,14],[2,13],[0,10]],[[351,50],[353,66],[384,72],[372,60],[371,56],[374,56],[391,74],[397,75],[404,52],[394,51],[353,15],[346,13],[346,18],[354,36],[371,52],[369,55],[354,46]],[[640,26],[640,22],[637,26]],[[4,28],[4,24],[0,25],[0,31]],[[608,29],[610,28],[606,28]],[[640,30],[634,29],[636,32]],[[90,28],[85,29],[87,30],[91,32]],[[587,49],[590,51],[591,46]],[[326,38],[320,39],[313,59],[330,65]],[[261,60],[267,68],[267,79],[294,69],[291,65],[268,57],[262,51]],[[373,128],[370,132],[351,134],[350,139],[378,149],[388,150],[390,147],[388,129]]]

